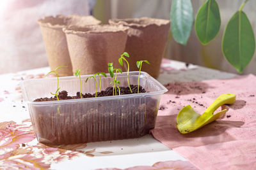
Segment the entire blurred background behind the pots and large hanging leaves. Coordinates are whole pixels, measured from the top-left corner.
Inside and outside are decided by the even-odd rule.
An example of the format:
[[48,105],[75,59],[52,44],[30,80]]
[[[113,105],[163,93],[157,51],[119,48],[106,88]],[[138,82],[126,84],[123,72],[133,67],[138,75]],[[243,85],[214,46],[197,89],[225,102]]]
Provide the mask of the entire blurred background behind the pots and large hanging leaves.
[[[186,46],[176,43],[172,34],[164,57],[182,60],[200,66],[236,73],[221,53],[221,38],[225,25],[244,0],[216,0],[220,6],[221,29],[208,45],[201,45],[195,30],[191,31]],[[47,66],[38,18],[45,15],[93,15],[108,23],[109,18],[154,17],[170,18],[172,0],[1,0],[0,1],[0,74]],[[194,13],[204,0],[192,1]],[[256,32],[256,1],[249,0],[243,10]],[[243,74],[256,74],[256,57],[244,69]]]

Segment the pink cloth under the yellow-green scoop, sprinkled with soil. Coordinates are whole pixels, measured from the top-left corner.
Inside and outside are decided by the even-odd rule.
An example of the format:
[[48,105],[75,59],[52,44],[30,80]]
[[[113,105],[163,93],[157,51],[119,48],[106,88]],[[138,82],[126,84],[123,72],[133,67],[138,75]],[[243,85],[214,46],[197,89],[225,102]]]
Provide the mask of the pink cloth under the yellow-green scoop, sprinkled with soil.
[[[154,138],[199,169],[256,169],[256,76],[229,80],[168,83],[161,98]],[[189,134],[176,127],[179,110],[190,104],[204,113],[221,94],[236,94],[222,119]]]

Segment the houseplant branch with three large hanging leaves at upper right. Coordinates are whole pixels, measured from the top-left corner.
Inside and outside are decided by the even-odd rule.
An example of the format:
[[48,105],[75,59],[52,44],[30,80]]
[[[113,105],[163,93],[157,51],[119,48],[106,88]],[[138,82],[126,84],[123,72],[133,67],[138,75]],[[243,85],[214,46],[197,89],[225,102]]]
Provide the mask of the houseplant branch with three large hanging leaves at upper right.
[[[225,58],[237,72],[242,73],[250,63],[255,52],[255,36],[250,20],[243,11],[244,1],[233,17],[228,21],[221,41],[221,50]],[[192,11],[192,12],[191,12]],[[171,8],[171,31],[175,41],[186,45],[193,22],[193,7],[190,0],[173,0]],[[221,18],[218,3],[207,0],[196,14],[196,36],[207,45],[220,31]]]

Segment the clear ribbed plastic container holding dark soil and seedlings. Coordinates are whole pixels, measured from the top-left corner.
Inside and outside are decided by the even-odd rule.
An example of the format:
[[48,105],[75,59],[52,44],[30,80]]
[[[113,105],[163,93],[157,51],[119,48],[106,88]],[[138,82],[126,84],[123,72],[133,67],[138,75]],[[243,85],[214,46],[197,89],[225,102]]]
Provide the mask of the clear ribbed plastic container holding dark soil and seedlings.
[[[129,73],[129,83],[137,85],[138,71]],[[82,92],[95,93],[91,75],[81,76]],[[118,74],[120,86],[127,87],[127,73]],[[102,77],[102,90],[111,86],[112,78]],[[99,77],[97,76],[99,85]],[[35,102],[40,97],[52,97],[56,78],[24,80],[22,94],[29,106],[29,114],[36,138],[41,143],[60,145],[88,143],[115,139],[137,138],[155,127],[161,94],[167,89],[145,72],[140,73],[140,85],[147,91],[123,96],[93,97],[63,101]],[[76,76],[60,78],[60,91],[76,96],[80,81]]]

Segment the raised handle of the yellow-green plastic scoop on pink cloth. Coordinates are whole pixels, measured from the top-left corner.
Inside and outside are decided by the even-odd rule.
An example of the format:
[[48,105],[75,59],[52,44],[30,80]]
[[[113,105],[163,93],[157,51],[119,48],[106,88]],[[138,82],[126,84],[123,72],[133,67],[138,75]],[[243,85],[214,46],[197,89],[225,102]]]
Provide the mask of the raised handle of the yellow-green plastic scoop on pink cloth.
[[221,94],[217,99],[205,110],[205,113],[212,115],[223,104],[233,104],[236,101],[236,94]]

